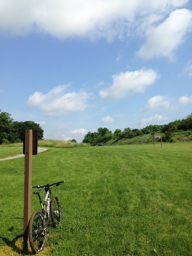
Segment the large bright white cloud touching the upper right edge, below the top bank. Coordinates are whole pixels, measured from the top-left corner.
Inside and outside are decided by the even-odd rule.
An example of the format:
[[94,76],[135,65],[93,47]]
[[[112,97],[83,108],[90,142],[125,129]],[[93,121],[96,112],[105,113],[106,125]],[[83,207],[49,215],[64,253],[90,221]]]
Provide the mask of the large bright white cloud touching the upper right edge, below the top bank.
[[176,9],[158,26],[148,27],[146,41],[137,52],[144,59],[174,56],[177,47],[192,29],[192,11]]

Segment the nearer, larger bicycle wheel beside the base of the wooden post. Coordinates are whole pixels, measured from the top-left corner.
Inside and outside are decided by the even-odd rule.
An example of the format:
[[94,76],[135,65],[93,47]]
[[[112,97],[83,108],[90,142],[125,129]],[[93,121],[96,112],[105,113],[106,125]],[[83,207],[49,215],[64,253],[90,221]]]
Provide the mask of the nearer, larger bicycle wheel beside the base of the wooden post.
[[44,228],[44,215],[35,211],[31,215],[28,225],[29,244],[33,253],[40,253],[45,246],[46,229]]

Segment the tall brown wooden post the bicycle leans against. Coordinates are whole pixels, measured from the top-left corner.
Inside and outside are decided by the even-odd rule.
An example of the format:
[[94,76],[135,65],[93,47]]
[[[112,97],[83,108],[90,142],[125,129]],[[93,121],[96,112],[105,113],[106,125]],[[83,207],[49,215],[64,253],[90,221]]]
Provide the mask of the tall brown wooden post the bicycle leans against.
[[31,217],[32,190],[32,130],[25,130],[25,173],[24,173],[24,214],[23,214],[23,253],[28,253],[28,223]]

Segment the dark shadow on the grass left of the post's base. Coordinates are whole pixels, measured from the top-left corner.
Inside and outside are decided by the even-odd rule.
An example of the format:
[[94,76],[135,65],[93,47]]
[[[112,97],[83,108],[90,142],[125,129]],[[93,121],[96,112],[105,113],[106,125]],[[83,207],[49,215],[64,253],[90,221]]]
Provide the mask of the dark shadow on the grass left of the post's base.
[[[16,236],[12,241],[2,236],[0,236],[0,239],[4,241],[4,243],[14,252],[18,253],[19,255],[23,255],[23,234]],[[28,252],[27,255],[32,255],[32,253]]]

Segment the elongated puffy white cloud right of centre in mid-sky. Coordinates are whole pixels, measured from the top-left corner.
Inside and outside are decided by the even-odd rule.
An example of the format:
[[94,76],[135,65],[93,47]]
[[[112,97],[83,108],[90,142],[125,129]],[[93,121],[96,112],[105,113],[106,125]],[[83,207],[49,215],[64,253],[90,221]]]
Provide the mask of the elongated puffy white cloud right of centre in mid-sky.
[[105,90],[100,90],[102,98],[122,99],[128,94],[144,93],[145,89],[153,84],[157,78],[157,71],[141,69],[113,75],[113,85]]

